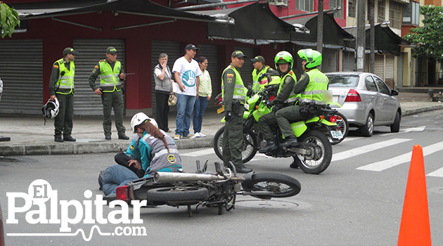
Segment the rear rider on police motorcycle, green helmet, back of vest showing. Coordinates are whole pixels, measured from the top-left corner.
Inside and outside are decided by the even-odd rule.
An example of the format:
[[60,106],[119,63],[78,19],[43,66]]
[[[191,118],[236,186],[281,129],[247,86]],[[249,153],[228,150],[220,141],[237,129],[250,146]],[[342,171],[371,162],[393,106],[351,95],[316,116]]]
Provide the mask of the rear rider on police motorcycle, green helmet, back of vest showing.
[[294,122],[304,119],[304,116],[300,114],[300,107],[309,103],[325,104],[323,102],[323,91],[328,90],[328,77],[317,69],[321,65],[321,53],[311,48],[305,48],[298,51],[297,54],[303,59],[302,67],[305,71],[293,89],[295,94],[300,93],[300,100],[297,105],[276,112],[278,126],[286,139],[284,143],[281,143],[283,147],[289,147],[297,143],[297,138],[293,133],[293,129],[290,128],[289,121]]

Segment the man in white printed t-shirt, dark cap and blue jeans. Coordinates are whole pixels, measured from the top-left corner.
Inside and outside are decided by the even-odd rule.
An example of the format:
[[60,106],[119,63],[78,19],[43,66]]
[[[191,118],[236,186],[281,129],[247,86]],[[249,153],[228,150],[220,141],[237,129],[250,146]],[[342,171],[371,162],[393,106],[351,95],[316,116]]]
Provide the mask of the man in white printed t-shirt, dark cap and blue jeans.
[[175,140],[192,136],[189,134],[189,127],[191,127],[195,98],[198,98],[199,76],[202,75],[200,66],[196,60],[193,60],[198,49],[195,45],[188,44],[185,48],[185,55],[175,60],[172,67],[174,80],[179,85]]

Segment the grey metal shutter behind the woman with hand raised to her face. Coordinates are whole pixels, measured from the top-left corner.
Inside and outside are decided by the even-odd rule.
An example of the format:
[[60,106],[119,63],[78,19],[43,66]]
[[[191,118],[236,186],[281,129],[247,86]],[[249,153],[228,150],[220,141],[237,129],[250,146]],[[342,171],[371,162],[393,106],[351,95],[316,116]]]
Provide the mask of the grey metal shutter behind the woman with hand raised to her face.
[[[180,58],[183,56],[184,51],[180,51],[180,43],[174,42],[174,41],[152,41],[152,58],[151,58],[151,71],[154,70],[154,67],[158,65],[158,56],[160,53],[167,53],[167,65],[169,69],[172,72],[172,66],[174,66],[175,60],[177,58]],[[154,80],[154,73],[153,77],[151,78],[151,86],[152,86],[152,110],[153,113],[155,113],[155,107],[157,106],[157,103],[155,102],[155,80]],[[172,77],[174,77],[174,74],[172,74]],[[176,110],[176,105],[170,106],[170,111]]]

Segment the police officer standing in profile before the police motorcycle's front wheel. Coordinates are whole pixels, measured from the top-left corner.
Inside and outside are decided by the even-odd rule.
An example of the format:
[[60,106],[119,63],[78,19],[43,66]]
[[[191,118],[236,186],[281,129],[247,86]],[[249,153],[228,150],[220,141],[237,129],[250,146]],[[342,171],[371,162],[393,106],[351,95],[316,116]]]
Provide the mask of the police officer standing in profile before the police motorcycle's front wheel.
[[221,97],[223,98],[226,124],[223,132],[223,162],[232,162],[238,173],[246,174],[252,169],[243,166],[241,145],[243,143],[243,112],[245,112],[246,89],[238,69],[245,62],[242,51],[231,54],[231,64],[221,75]]

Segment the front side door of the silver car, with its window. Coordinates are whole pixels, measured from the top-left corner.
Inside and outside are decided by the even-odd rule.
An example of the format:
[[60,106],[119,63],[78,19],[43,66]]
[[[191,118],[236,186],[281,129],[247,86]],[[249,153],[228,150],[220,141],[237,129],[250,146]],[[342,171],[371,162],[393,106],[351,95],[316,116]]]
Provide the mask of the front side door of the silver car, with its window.
[[391,123],[394,121],[397,112],[397,101],[390,95],[390,89],[385,82],[378,77],[375,77],[375,84],[377,84],[380,97],[380,120],[383,123]]

